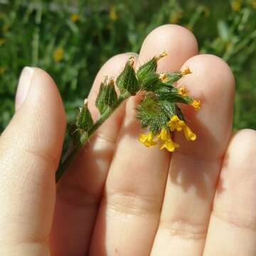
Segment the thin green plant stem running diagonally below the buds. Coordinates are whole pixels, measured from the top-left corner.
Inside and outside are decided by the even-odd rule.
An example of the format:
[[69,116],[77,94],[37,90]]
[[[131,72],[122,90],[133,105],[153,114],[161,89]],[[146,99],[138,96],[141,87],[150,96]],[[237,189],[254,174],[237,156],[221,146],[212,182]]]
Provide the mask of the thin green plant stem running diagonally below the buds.
[[116,104],[114,105],[114,107],[112,108],[107,108],[107,110],[100,115],[99,119],[97,119],[97,121],[95,122],[95,124],[92,126],[92,128],[88,131],[88,135],[85,139],[84,142],[82,142],[82,144],[78,145],[75,147],[75,149],[73,149],[73,151],[67,156],[67,158],[60,164],[60,166],[58,167],[58,170],[55,173],[55,181],[56,183],[60,180],[60,178],[63,176],[64,172],[68,169],[68,166],[70,166],[70,163],[75,159],[75,157],[78,154],[78,151],[80,151],[80,149],[82,148],[82,146],[84,146],[88,140],[90,139],[90,137],[92,137],[92,135],[97,131],[97,129],[107,120],[107,118],[110,117],[111,114],[113,114],[113,112],[115,110],[117,110],[117,108],[119,107],[119,105],[122,104],[122,102],[124,102],[125,100],[127,100],[130,97],[130,93],[129,92],[124,92],[122,93],[118,99]]

